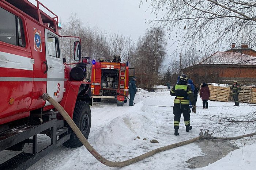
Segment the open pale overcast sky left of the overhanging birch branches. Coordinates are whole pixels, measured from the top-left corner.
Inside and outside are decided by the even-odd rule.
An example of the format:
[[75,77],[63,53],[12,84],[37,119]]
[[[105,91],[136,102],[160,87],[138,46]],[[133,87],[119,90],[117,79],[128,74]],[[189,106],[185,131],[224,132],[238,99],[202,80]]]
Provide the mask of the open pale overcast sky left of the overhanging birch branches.
[[[30,0],[31,1],[31,0]],[[146,12],[149,3],[139,7],[140,0],[41,0],[62,22],[67,22],[71,13],[82,19],[84,26],[97,25],[102,31],[131,35],[138,40],[146,32],[146,19],[156,16]]]

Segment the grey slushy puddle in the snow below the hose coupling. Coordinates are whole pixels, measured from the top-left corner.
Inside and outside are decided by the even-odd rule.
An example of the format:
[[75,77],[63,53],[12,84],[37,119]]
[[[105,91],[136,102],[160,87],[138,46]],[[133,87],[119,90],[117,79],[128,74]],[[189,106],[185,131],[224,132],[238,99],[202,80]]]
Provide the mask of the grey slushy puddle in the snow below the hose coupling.
[[239,149],[239,147],[234,146],[225,140],[204,139],[195,143],[202,149],[204,155],[193,157],[186,161],[186,163],[190,164],[188,168],[191,169],[208,166],[209,163],[218,161],[225,157],[229,152]]

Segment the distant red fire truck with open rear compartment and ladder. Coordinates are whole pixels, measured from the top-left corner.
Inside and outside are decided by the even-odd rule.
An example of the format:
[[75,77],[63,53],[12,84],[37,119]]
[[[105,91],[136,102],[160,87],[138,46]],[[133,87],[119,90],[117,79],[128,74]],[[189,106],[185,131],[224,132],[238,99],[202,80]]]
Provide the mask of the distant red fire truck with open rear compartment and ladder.
[[120,55],[113,60],[104,58],[92,61],[91,90],[93,101],[101,98],[114,98],[117,106],[123,106],[128,97],[129,68],[128,62],[121,62]]

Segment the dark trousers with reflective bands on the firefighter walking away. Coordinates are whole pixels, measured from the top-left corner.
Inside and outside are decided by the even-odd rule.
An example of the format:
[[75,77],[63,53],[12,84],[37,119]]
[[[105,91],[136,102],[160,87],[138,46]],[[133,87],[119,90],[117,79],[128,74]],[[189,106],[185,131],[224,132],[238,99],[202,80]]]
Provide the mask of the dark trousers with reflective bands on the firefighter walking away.
[[174,104],[173,107],[173,114],[174,114],[174,128],[179,127],[180,124],[180,117],[181,113],[183,114],[185,126],[190,126],[190,108],[189,105],[179,105],[179,104]]

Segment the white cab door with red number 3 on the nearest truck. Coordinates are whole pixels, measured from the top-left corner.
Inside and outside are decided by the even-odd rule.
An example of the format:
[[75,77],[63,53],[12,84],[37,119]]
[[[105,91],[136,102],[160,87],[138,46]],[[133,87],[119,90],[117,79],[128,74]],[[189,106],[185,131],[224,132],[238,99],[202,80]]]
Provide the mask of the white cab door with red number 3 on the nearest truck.
[[[45,29],[45,50],[47,71],[47,93],[60,102],[64,94],[64,64],[60,49],[59,36]],[[45,106],[50,105],[47,101]]]

